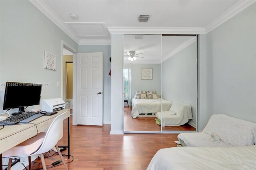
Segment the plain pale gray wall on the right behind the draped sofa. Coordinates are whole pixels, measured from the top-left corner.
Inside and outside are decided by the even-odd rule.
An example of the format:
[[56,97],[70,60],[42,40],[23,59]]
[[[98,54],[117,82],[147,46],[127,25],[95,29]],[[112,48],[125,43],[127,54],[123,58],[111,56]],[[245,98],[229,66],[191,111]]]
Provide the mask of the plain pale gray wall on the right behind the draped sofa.
[[256,4],[200,36],[200,42],[206,43],[199,52],[200,74],[206,71],[200,82],[206,81],[207,111],[199,115],[205,114],[199,129],[220,113],[256,122]]

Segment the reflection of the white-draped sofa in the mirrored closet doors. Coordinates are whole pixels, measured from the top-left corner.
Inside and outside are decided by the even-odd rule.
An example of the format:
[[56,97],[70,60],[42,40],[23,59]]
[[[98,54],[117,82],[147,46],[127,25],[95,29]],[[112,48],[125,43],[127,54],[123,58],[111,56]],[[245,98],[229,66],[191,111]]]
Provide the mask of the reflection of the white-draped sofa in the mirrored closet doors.
[[162,127],[165,126],[180,126],[187,123],[192,118],[191,106],[182,102],[173,102],[169,111],[156,113],[156,117],[161,120]]

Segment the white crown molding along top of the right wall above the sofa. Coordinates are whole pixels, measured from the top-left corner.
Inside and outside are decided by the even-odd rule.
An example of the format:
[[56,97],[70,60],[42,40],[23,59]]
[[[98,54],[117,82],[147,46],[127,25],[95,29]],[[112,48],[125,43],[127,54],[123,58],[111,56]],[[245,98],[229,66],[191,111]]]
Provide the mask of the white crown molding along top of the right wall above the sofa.
[[205,34],[208,34],[208,32],[214,30],[214,28],[220,26],[242,10],[246,9],[250,5],[254,4],[256,0],[240,0],[236,4],[234,4],[232,7],[230,7],[228,10],[226,10],[223,14],[218,16],[215,20],[213,20],[210,24],[208,24],[205,27]]

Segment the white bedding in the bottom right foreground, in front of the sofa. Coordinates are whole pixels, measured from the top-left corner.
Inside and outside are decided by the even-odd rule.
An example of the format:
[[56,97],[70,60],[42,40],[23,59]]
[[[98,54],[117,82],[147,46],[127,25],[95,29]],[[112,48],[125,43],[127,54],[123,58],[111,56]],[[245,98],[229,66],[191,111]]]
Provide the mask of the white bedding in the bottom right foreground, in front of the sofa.
[[147,170],[255,170],[256,146],[160,149]]

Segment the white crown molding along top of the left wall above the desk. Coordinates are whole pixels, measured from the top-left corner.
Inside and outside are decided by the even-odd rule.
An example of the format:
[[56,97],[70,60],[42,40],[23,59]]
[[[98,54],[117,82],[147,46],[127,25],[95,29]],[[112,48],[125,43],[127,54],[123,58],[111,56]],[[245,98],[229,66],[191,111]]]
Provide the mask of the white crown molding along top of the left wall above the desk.
[[58,26],[64,33],[66,33],[72,40],[79,43],[78,38],[69,28],[64,24],[62,19],[44,2],[44,0],[28,0],[38,10],[40,10],[46,17],[48,17],[56,26]]

